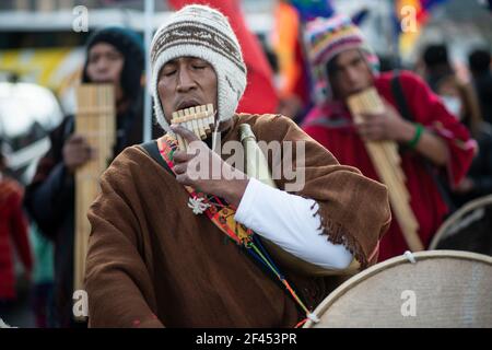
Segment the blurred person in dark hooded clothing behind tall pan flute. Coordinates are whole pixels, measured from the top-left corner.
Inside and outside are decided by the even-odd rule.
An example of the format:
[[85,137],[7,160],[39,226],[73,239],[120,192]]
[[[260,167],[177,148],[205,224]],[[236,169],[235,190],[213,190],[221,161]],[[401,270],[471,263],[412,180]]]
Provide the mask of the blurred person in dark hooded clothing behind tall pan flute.
[[[82,83],[112,84],[116,100],[116,155],[142,142],[144,52],[137,33],[124,27],[94,32],[86,43]],[[43,234],[55,242],[55,323],[73,322],[74,173],[96,155],[87,139],[74,131],[75,117],[66,117],[50,133],[51,149],[39,161],[25,206]],[[106,132],[105,130],[101,130]],[[154,128],[154,135],[156,128]]]

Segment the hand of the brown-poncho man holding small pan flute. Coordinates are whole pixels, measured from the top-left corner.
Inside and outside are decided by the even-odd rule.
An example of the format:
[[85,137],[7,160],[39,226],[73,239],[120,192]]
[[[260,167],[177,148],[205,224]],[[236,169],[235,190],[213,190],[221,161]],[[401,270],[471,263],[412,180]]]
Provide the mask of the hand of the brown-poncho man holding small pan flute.
[[248,178],[246,174],[224,162],[194,132],[172,126],[172,130],[188,142],[187,151],[174,152],[176,180],[206,194],[224,198],[238,206]]

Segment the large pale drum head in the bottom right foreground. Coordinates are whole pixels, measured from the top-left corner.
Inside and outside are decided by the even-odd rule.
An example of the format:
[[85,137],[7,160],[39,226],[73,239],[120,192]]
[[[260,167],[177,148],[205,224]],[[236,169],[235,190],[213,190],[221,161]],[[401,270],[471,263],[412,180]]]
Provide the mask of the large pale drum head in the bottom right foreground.
[[379,262],[352,277],[315,310],[328,327],[492,327],[492,257],[432,250]]

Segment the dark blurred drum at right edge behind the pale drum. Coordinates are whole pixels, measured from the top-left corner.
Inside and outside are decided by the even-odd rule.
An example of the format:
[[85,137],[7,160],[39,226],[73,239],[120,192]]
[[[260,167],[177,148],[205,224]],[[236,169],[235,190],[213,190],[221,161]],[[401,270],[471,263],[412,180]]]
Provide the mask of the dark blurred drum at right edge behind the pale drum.
[[450,215],[434,235],[429,249],[492,256],[492,195],[475,199]]

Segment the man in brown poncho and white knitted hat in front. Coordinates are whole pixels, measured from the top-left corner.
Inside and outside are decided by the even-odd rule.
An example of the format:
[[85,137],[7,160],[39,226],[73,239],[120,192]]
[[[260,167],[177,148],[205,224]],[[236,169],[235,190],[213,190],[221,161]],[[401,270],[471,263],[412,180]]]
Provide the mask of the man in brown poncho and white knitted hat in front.
[[[189,5],[174,13],[154,36],[151,65],[166,135],[153,143],[157,158],[149,143],[131,147],[102,176],[89,212],[90,326],[293,327],[313,318],[329,292],[326,275],[376,259],[390,220],[386,187],[339,165],[289,118],[235,113],[246,67],[220,12]],[[196,128],[171,126],[207,110],[215,112],[216,133],[204,142]],[[303,186],[288,192],[291,179],[280,176],[272,188],[224,161],[222,147],[241,142],[246,125],[258,141],[305,145],[303,162],[297,153],[281,159],[302,163]],[[263,238],[321,273],[278,264]]]

